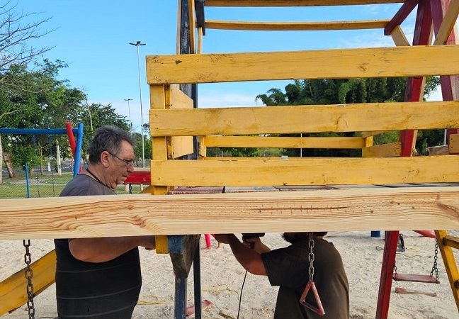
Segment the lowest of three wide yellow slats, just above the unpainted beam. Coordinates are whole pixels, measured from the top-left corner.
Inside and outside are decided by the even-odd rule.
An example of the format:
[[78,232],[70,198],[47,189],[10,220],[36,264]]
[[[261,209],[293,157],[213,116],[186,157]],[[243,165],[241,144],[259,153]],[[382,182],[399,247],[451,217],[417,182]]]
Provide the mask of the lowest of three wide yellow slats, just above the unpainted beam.
[[459,156],[152,161],[152,185],[283,186],[459,181]]

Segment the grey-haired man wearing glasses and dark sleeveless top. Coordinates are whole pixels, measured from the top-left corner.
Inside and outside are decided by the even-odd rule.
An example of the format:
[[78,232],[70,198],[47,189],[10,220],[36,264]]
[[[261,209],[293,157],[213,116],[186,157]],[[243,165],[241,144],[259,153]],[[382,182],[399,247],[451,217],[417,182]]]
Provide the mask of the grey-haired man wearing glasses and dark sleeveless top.
[[[132,144],[115,126],[96,130],[88,168],[60,196],[114,195],[133,171]],[[55,246],[60,319],[131,318],[142,285],[138,247],[153,250],[154,236],[57,239]]]

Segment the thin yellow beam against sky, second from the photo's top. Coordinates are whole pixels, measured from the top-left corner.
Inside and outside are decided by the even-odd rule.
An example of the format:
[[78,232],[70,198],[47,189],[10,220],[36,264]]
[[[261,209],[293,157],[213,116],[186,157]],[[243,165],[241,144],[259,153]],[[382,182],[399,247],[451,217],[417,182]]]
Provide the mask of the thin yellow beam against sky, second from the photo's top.
[[328,22],[252,22],[206,20],[206,29],[220,30],[360,30],[385,28],[390,20],[328,21]]

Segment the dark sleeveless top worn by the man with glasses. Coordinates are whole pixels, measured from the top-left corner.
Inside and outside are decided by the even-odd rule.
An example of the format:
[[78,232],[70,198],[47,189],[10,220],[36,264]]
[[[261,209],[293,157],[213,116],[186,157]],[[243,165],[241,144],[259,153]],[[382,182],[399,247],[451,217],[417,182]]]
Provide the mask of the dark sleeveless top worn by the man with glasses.
[[[109,195],[113,190],[91,177],[78,175],[60,196]],[[67,239],[55,240],[56,297],[60,319],[128,319],[139,298],[142,275],[139,250],[108,262],[81,262],[69,251]]]

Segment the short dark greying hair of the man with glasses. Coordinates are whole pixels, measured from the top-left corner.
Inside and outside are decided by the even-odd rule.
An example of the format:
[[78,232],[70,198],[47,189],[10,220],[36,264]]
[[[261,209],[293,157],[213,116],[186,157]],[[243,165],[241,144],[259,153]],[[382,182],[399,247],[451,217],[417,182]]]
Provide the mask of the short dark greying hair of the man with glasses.
[[120,151],[121,142],[125,140],[130,145],[134,145],[132,138],[125,131],[117,126],[104,125],[96,130],[94,137],[88,147],[89,162],[97,164],[101,162],[103,151],[117,155]]

